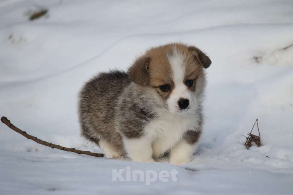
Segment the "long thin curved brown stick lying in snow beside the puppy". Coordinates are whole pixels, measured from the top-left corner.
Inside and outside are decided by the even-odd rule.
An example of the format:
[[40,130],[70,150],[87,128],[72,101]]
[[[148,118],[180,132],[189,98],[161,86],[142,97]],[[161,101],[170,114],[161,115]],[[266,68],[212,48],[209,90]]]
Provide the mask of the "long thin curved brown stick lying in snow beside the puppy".
[[77,154],[86,154],[86,155],[90,155],[90,156],[104,157],[104,154],[101,154],[101,153],[93,153],[93,152],[89,152],[89,151],[77,150],[75,148],[66,148],[66,147],[63,147],[63,146],[60,146],[60,145],[56,145],[56,144],[53,144],[53,143],[49,143],[49,142],[40,140],[37,137],[34,137],[32,135],[27,134],[26,131],[22,131],[22,130],[18,129],[16,126],[11,124],[10,120],[8,120],[6,117],[2,117],[1,121],[5,125],[7,125],[10,129],[12,129],[12,130],[16,131],[17,133],[22,134],[24,137],[26,137],[26,138],[28,138],[30,140],[33,140],[33,141],[35,141],[37,143],[40,143],[40,144],[42,144],[44,146],[49,146],[51,148],[57,148],[57,149],[68,151],[68,152],[75,152]]

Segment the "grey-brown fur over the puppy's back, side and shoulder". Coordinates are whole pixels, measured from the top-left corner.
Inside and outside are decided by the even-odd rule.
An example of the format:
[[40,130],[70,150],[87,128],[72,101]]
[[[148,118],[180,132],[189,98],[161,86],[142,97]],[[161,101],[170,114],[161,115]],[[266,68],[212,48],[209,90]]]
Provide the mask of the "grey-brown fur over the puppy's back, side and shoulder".
[[[81,134],[96,144],[100,139],[108,140],[125,153],[120,133],[127,138],[138,138],[155,116],[150,109],[154,105],[147,100],[143,92],[132,91],[131,78],[126,72],[112,70],[98,74],[80,92]],[[116,124],[119,129],[115,128]]]

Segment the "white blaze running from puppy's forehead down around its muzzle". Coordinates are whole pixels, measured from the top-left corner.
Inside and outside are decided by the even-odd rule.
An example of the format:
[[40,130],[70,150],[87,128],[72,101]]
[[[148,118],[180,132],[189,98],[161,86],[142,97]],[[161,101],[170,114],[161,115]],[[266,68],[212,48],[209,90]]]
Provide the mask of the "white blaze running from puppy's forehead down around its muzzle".
[[170,93],[170,97],[168,98],[167,103],[169,110],[173,113],[176,113],[180,112],[180,108],[178,106],[178,101],[180,98],[188,99],[190,102],[188,108],[192,107],[192,94],[184,83],[186,68],[184,55],[180,53],[176,47],[174,47],[173,54],[168,55],[167,57],[172,69],[172,79],[174,83],[174,88]]

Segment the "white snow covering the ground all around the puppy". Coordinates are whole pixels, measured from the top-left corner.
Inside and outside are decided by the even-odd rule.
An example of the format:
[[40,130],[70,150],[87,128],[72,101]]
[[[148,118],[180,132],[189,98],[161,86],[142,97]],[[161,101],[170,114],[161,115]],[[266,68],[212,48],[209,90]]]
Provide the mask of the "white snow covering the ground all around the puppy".
[[[28,13],[49,9],[29,21]],[[147,48],[180,41],[211,58],[204,134],[175,166],[51,149],[0,125],[0,194],[293,194],[292,1],[0,1],[0,114],[46,141],[80,137],[77,93]],[[243,143],[255,119],[261,147]],[[256,129],[255,129],[256,130]],[[254,131],[256,134],[256,131]],[[270,158],[268,158],[268,157]],[[113,182],[112,170],[178,171],[177,181]],[[187,168],[187,169],[186,169]]]

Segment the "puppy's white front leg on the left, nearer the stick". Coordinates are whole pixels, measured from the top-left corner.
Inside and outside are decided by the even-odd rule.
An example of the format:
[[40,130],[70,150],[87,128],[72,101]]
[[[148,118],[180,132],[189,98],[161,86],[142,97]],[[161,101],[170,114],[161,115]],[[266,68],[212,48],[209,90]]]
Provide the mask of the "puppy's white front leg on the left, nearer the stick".
[[123,138],[125,150],[133,161],[138,162],[156,162],[152,158],[152,142],[149,137]]

